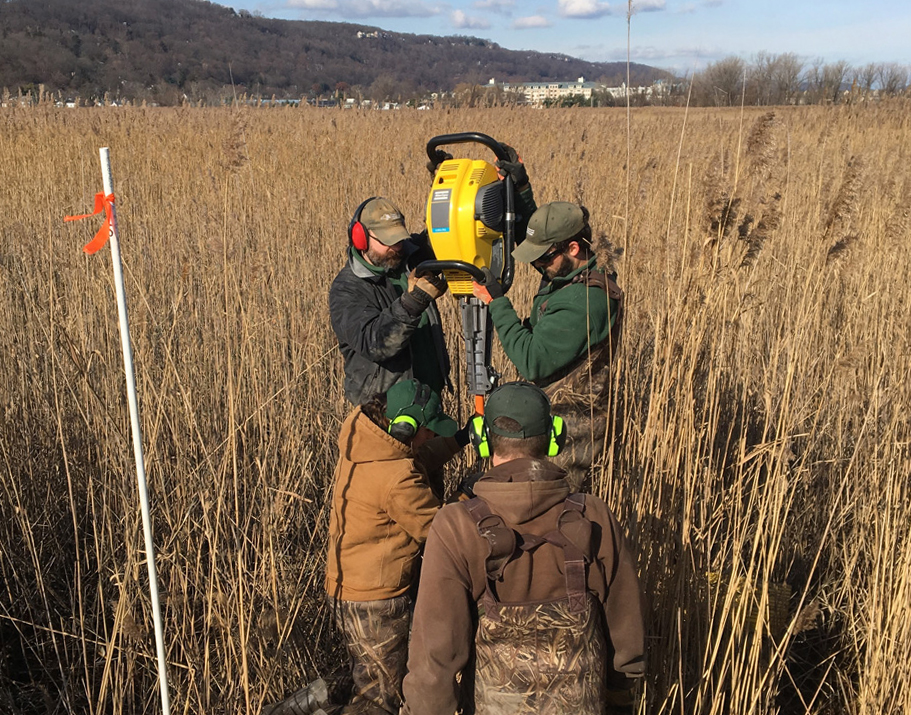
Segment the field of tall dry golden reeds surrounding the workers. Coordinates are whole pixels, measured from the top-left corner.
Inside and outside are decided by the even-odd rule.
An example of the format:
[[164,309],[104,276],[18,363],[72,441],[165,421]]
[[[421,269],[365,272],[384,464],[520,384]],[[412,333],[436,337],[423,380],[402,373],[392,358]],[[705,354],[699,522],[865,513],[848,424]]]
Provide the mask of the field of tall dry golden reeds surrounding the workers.
[[[594,488],[639,553],[640,712],[911,711],[908,110],[0,111],[0,712],[159,711],[110,252],[62,221],[98,147],[172,712],[216,715],[342,662],[328,287],[363,198],[421,227],[424,146],[455,131],[518,147],[539,204],[587,205],[626,292]],[[534,284],[519,267],[520,313]]]

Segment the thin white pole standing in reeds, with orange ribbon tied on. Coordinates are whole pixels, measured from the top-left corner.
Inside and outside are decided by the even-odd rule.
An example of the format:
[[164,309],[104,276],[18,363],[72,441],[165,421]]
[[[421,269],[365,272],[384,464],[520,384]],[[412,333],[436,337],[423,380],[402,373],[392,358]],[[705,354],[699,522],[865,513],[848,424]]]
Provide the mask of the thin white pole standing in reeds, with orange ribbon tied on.
[[[111,181],[111,154],[107,147],[99,150],[104,195],[114,193]],[[158,651],[158,681],[161,686],[161,710],[170,715],[168,698],[168,664],[165,660],[161,608],[158,605],[158,576],[155,570],[155,546],[152,543],[152,517],[149,511],[149,491],[146,486],[145,461],[142,456],[142,430],[139,424],[139,401],[136,399],[136,377],[133,372],[133,350],[130,347],[130,323],[127,317],[126,292],[123,289],[123,265],[120,261],[120,242],[117,240],[117,209],[111,205],[111,257],[114,264],[114,286],[117,290],[117,314],[120,318],[120,344],[123,348],[123,367],[127,379],[127,400],[130,403],[130,424],[133,429],[133,455],[136,459],[136,481],[142,506],[142,530],[145,535],[146,565],[149,569],[149,590],[152,595],[152,618],[155,623],[155,647]]]

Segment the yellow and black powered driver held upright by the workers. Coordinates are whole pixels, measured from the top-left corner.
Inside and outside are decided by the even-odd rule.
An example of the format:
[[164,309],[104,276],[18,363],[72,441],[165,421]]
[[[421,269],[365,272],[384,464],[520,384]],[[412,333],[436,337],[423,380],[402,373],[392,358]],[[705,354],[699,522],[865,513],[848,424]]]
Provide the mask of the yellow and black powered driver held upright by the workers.
[[[427,142],[427,156],[449,144],[478,143],[497,159],[509,160],[503,146],[486,134],[443,134]],[[468,389],[475,396],[475,412],[483,414],[484,397],[496,387],[499,373],[490,364],[493,323],[487,306],[472,295],[472,280],[483,282],[481,269],[489,268],[503,292],[513,279],[515,245],[515,187],[507,174],[486,161],[447,159],[437,167],[427,199],[427,233],[436,260],[423,261],[418,275],[442,272],[459,301]]]

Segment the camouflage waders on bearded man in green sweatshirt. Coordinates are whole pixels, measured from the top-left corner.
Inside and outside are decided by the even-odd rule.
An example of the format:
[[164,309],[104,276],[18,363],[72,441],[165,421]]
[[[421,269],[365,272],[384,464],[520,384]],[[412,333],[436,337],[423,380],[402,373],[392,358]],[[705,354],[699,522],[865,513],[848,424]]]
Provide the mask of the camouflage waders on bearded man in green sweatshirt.
[[[623,291],[613,278],[600,271],[585,271],[573,280],[601,288],[607,299],[617,301],[617,319],[606,340],[593,346],[585,355],[552,375],[544,392],[550,399],[551,412],[566,420],[566,445],[553,463],[566,470],[571,491],[590,488],[586,483],[595,464],[604,453],[607,420],[611,402],[611,373],[608,369],[620,344],[623,323]],[[545,301],[540,310],[546,307]]]

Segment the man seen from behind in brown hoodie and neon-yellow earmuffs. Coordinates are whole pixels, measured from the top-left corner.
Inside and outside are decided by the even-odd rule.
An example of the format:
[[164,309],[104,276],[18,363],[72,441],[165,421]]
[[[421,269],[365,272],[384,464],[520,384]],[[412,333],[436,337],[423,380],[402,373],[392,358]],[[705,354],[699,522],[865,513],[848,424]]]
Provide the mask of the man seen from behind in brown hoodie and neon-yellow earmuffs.
[[402,714],[632,713],[642,604],[617,520],[546,459],[563,425],[540,388],[502,385],[475,420],[492,468],[431,524]]

